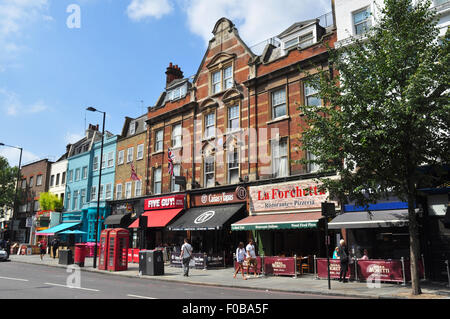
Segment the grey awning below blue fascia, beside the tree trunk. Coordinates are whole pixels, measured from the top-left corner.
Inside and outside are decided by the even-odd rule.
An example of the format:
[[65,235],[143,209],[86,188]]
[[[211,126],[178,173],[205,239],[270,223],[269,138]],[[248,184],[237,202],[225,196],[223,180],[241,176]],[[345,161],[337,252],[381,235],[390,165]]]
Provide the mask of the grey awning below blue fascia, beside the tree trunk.
[[328,223],[328,229],[403,227],[407,225],[408,210],[397,209],[344,213]]

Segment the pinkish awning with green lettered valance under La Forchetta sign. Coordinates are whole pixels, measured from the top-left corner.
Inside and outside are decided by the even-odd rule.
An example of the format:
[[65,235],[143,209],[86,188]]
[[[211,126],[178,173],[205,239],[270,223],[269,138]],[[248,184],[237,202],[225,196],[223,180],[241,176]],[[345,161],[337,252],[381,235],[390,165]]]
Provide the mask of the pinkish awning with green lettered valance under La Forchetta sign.
[[316,228],[320,212],[267,214],[246,217],[231,225],[231,230],[276,230]]

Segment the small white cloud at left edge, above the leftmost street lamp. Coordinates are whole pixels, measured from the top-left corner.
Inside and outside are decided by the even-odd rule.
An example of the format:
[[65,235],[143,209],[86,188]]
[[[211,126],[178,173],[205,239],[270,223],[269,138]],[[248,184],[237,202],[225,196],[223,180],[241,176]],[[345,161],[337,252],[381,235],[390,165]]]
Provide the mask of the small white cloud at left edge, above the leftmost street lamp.
[[36,114],[48,109],[49,107],[42,100],[25,105],[15,92],[0,88],[0,111],[4,111],[6,115]]

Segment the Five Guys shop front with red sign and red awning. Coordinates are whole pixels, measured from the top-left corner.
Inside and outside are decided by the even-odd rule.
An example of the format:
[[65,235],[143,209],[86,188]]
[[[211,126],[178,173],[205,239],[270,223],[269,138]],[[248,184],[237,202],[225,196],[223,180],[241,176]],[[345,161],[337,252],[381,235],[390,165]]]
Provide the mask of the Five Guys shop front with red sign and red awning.
[[[185,234],[169,232],[165,227],[185,209],[186,195],[150,197],[143,202],[143,213],[128,226],[138,234],[137,247],[155,249],[179,245]],[[146,225],[142,225],[145,220]]]

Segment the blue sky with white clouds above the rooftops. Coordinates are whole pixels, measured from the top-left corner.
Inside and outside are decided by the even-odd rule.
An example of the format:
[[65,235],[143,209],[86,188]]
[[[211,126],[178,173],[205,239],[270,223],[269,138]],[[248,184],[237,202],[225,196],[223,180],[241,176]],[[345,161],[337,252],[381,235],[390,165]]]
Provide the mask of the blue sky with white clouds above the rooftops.
[[[100,124],[120,134],[125,116],[153,105],[165,70],[194,75],[221,17],[251,46],[331,11],[331,0],[0,0],[0,142],[23,162],[56,160]],[[80,27],[69,28],[80,10]],[[141,102],[143,101],[143,102]],[[19,151],[0,147],[10,165]]]

